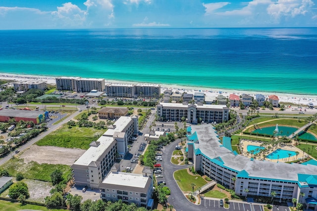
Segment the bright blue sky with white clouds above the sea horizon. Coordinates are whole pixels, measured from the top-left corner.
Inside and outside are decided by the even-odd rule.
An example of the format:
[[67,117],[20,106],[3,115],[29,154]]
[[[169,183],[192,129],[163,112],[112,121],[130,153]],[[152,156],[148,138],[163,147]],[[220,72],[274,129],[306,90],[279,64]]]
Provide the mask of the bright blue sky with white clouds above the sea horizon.
[[2,29],[317,27],[317,0],[1,0]]

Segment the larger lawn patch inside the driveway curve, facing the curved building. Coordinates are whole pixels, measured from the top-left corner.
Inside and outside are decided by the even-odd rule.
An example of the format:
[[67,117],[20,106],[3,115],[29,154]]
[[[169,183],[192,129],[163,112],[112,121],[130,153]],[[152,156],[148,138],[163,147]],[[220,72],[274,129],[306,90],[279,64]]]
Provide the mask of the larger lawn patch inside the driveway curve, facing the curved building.
[[194,190],[202,187],[207,182],[199,174],[190,175],[187,169],[181,169],[174,172],[174,178],[182,191],[192,191],[191,183],[195,183]]

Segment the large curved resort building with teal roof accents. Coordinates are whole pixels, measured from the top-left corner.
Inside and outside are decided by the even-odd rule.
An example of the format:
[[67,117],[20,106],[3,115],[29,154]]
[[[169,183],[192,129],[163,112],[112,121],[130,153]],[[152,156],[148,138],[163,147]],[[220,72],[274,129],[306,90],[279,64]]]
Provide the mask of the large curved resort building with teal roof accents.
[[271,197],[275,192],[274,199],[280,202],[293,198],[299,201],[303,192],[303,200],[316,206],[312,204],[317,198],[316,165],[250,159],[232,151],[230,138],[224,137],[222,141],[221,144],[211,125],[187,127],[188,158],[193,161],[196,171],[234,189],[239,196]]

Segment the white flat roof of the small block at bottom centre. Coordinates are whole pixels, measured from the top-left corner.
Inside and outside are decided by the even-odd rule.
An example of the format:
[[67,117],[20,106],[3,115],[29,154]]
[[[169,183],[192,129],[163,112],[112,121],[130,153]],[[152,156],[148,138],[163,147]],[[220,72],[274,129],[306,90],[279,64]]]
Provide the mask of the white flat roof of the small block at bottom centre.
[[149,177],[145,177],[142,174],[110,172],[102,183],[111,185],[122,185],[127,187],[145,188],[148,180]]

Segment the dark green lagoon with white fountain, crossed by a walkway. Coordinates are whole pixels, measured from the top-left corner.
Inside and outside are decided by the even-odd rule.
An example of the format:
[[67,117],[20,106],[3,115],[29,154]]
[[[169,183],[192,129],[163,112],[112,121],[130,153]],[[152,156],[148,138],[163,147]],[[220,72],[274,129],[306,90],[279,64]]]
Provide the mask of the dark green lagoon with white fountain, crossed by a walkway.
[[[259,133],[259,134],[267,134],[267,135],[273,135],[273,131],[275,130],[276,126],[272,126],[272,127],[263,127],[260,129],[256,129],[253,132],[254,133]],[[280,133],[277,133],[277,135],[290,135],[293,132],[295,132],[298,128],[296,127],[286,127],[286,126],[278,126],[278,130],[280,131]],[[282,131],[282,133],[281,133]],[[299,138],[302,139],[309,139],[309,140],[317,140],[317,138],[312,135],[309,132],[304,132],[302,135],[299,136]]]

